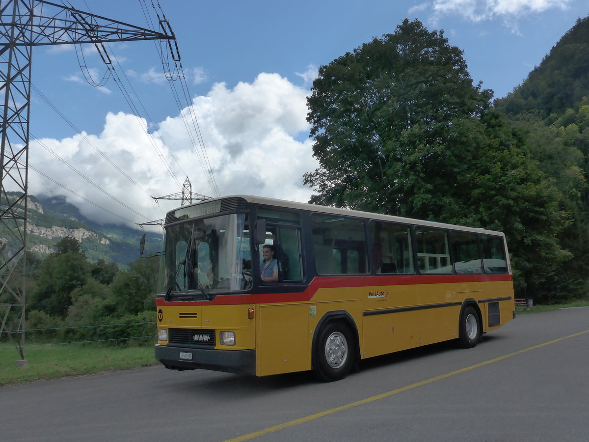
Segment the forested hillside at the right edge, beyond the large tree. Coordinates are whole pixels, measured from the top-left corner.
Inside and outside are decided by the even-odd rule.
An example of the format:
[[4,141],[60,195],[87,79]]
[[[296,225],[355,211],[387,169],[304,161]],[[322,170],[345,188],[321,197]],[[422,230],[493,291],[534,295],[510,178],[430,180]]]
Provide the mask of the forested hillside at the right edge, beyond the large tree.
[[[512,93],[494,101],[555,189],[561,210],[555,230],[560,253],[530,269],[526,283],[541,302],[587,299],[589,288],[589,17],[552,47]],[[512,252],[514,255],[518,250]]]

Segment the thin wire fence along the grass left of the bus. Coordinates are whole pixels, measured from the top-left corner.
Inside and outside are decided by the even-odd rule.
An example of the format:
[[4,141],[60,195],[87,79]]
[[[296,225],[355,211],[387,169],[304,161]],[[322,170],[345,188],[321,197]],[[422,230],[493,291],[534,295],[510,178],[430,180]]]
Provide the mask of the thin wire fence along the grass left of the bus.
[[14,344],[2,344],[9,344],[10,335],[21,333],[27,336],[25,347],[98,343],[117,346],[118,344],[127,345],[130,342],[150,345],[154,344],[157,336],[155,321],[5,330],[0,336],[0,349],[14,348]]

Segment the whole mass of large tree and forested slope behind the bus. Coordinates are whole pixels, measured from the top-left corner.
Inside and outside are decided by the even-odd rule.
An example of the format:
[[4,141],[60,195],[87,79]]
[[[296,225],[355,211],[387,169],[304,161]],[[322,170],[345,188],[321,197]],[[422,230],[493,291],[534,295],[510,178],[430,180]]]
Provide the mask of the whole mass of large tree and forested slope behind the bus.
[[587,298],[589,18],[507,97],[405,19],[319,68],[310,202],[505,232],[518,297]]

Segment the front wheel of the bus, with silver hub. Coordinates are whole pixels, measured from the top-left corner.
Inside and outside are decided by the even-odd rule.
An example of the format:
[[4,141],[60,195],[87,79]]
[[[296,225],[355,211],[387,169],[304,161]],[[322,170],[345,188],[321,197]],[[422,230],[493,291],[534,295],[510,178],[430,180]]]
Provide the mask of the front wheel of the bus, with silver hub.
[[313,357],[313,374],[320,381],[332,382],[348,375],[354,363],[355,342],[345,322],[332,321],[321,328]]

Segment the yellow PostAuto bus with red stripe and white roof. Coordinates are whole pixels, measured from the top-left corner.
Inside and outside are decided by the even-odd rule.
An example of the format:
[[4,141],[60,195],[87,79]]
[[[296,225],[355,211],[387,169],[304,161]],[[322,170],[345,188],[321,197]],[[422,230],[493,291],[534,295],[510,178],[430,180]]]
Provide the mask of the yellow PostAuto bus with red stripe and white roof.
[[164,229],[170,369],[334,381],[378,355],[474,347],[515,314],[501,232],[244,195],[171,210]]

